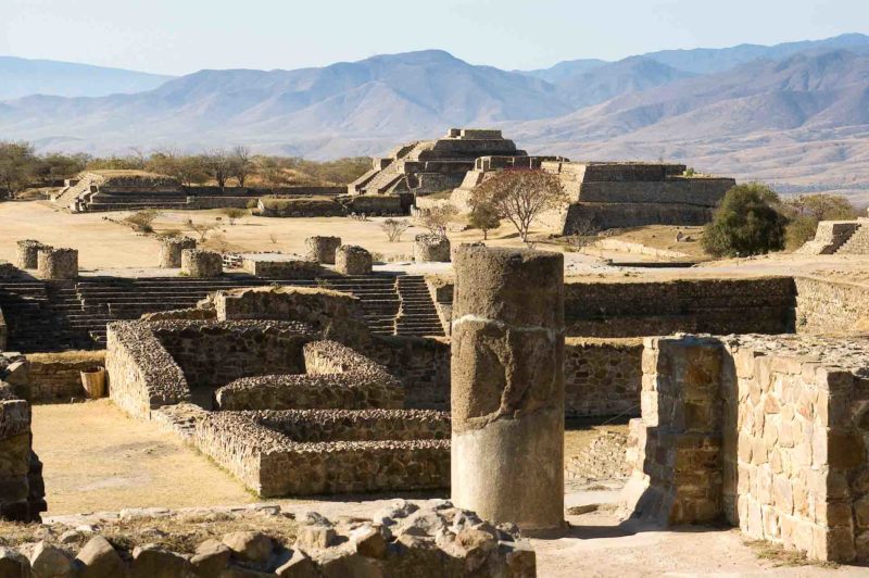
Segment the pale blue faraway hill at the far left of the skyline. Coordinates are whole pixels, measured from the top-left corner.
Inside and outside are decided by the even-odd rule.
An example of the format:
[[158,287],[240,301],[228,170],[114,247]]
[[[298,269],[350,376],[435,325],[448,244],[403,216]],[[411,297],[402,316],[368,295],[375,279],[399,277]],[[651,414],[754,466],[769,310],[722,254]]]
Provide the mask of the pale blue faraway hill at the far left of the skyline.
[[134,93],[159,87],[172,76],[122,68],[0,56],[0,100],[30,95],[102,97]]

